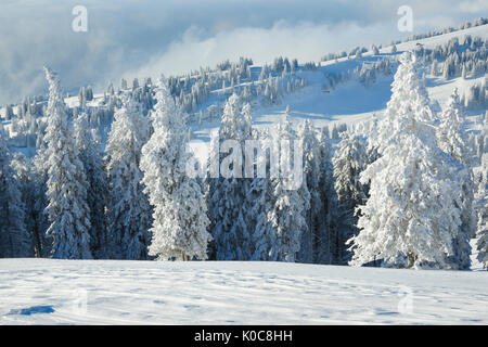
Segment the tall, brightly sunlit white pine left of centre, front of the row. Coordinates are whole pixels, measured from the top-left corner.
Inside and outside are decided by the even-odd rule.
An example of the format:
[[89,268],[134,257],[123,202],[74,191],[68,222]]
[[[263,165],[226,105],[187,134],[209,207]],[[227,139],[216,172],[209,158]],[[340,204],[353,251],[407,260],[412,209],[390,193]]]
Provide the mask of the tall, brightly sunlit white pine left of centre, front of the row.
[[150,255],[169,258],[207,259],[210,223],[202,188],[189,177],[188,137],[184,115],[169,93],[166,80],[158,80],[157,104],[152,112],[154,132],[142,147],[144,192],[154,207]]

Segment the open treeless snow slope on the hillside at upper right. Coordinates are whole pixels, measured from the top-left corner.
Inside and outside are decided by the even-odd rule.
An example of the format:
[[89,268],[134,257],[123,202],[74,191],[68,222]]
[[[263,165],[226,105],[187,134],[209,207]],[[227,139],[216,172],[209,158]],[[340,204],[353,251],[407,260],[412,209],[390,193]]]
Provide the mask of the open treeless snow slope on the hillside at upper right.
[[[462,42],[467,35],[486,40],[488,39],[488,25],[398,43],[396,54],[391,54],[391,47],[386,46],[380,50],[381,55],[378,56],[372,56],[371,51],[369,51],[361,59],[342,57],[337,61],[321,62],[321,66],[317,72],[305,72],[305,76],[300,75],[309,83],[305,89],[284,95],[282,102],[278,105],[262,107],[254,104],[253,126],[259,128],[277,123],[284,114],[286,106],[291,108],[290,118],[295,126],[304,119],[310,119],[314,126],[323,127],[332,124],[364,121],[373,114],[381,116],[391,97],[390,85],[394,79],[393,75],[378,75],[376,82],[370,88],[365,88],[356,78],[352,78],[346,82],[338,83],[334,90],[328,93],[322,91],[324,75],[330,72],[345,73],[348,69],[352,70],[356,66],[361,66],[363,62],[396,59],[402,52],[415,50],[418,44],[422,44],[425,49],[434,49],[437,46],[449,42],[454,37]],[[254,68],[260,68],[260,66],[254,66]],[[441,76],[428,74],[428,68],[426,73],[426,87],[429,98],[434,104],[438,104],[440,107],[445,106],[454,88],[458,88],[460,94],[463,95],[471,86],[479,83],[486,78],[485,76],[476,76],[468,79],[457,77],[446,81]],[[484,114],[485,112],[475,112],[475,114],[481,113]],[[217,128],[218,124],[206,124],[201,127],[194,126],[192,129],[194,141],[208,140],[209,134]]]

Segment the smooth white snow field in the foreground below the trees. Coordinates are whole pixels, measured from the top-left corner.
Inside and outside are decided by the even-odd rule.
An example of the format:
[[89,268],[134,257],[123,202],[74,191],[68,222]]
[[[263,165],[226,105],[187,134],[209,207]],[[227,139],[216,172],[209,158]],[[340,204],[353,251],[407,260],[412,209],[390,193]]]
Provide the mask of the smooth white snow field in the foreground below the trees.
[[487,324],[486,271],[0,260],[1,324]]

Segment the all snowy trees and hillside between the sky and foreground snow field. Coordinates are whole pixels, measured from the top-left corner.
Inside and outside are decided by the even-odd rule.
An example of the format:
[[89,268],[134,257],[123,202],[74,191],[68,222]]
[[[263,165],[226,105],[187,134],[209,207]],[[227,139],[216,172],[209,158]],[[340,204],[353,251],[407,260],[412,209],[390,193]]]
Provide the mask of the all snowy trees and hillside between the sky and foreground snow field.
[[[46,67],[0,110],[0,257],[486,268],[487,23],[78,95]],[[190,177],[224,140],[297,141],[300,187]]]

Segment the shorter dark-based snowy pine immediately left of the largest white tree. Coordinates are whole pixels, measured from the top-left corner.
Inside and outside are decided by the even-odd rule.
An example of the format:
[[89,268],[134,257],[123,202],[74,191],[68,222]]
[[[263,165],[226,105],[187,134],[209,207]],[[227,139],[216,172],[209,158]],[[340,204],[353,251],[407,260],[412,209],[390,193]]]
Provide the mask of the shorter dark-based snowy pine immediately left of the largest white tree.
[[367,139],[352,131],[341,133],[341,142],[333,158],[335,192],[337,194],[338,226],[337,236],[341,244],[339,261],[350,260],[346,242],[358,234],[356,209],[367,202],[368,185],[360,182],[359,176],[368,164]]

